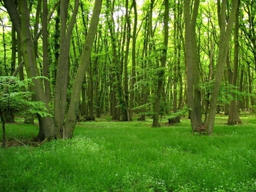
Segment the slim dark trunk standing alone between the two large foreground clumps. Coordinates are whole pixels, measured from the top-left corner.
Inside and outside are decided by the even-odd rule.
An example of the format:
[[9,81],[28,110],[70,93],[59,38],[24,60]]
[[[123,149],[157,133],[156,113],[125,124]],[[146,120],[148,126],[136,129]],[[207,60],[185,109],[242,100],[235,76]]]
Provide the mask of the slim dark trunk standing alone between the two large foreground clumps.
[[156,90],[156,100],[154,103],[154,115],[153,115],[153,124],[152,127],[160,127],[159,124],[159,113],[161,105],[161,95],[164,90],[164,70],[166,66],[166,56],[168,49],[168,35],[169,35],[169,0],[164,0],[164,48],[161,55],[161,70],[158,74],[157,90]]

